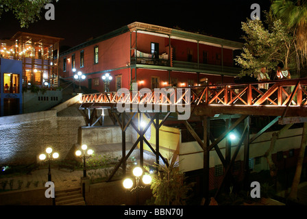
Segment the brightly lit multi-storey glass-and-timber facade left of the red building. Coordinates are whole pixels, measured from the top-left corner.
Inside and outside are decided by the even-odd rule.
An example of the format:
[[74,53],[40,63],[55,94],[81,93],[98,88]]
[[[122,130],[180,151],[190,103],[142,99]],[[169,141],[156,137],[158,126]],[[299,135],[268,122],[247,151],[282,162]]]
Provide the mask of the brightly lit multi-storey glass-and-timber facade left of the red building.
[[0,40],[0,56],[22,61],[24,86],[58,87],[60,40],[19,31],[10,40]]

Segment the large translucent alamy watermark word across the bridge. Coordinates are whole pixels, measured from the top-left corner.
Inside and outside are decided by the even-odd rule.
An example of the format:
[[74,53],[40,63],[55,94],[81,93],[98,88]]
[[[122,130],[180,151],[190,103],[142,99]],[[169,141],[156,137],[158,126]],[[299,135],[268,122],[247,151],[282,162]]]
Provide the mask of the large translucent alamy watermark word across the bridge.
[[120,88],[116,95],[121,97],[116,104],[118,112],[178,112],[178,120],[191,116],[190,88],[154,88],[153,92],[142,88],[138,91],[138,83],[132,83],[132,92]]

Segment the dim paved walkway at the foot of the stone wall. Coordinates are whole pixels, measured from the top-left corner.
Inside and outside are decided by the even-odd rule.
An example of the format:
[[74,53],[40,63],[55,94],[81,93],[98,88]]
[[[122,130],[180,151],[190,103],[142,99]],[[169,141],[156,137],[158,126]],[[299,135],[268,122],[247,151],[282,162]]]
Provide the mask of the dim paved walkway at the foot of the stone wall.
[[[51,181],[54,182],[55,189],[65,190],[69,188],[77,188],[80,186],[80,177],[83,176],[83,170],[75,170],[70,172],[66,169],[51,169]],[[32,171],[32,175],[20,175],[12,177],[1,177],[0,188],[3,189],[1,182],[8,181],[5,190],[34,190],[45,188],[48,181],[48,169],[40,169]],[[12,182],[12,185],[10,185]],[[22,183],[22,185],[20,185]],[[11,188],[12,186],[12,188]]]

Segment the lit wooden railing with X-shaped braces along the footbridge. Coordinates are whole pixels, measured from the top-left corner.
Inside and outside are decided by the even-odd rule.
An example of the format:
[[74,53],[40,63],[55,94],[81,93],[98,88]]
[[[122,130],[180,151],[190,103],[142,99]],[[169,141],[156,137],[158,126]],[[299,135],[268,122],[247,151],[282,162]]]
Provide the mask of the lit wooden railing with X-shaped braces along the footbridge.
[[[259,85],[268,83],[267,90]],[[186,88],[83,94],[80,103],[138,103],[160,105],[307,105],[307,78],[228,83]]]

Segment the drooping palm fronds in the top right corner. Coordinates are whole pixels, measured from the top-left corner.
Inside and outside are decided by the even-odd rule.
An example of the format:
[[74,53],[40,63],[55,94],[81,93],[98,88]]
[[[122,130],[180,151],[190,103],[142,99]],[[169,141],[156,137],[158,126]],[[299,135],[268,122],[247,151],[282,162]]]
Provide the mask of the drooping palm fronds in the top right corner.
[[296,28],[297,49],[307,57],[307,1],[273,0],[271,10],[288,27]]

